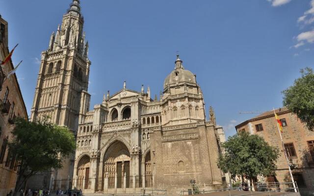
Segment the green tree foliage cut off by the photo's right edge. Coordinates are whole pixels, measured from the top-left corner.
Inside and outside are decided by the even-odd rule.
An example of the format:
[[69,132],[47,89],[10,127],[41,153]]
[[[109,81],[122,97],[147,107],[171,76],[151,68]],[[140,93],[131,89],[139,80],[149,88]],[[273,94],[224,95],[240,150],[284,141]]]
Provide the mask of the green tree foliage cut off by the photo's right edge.
[[301,77],[283,91],[283,104],[314,131],[314,73],[311,68],[301,69]]

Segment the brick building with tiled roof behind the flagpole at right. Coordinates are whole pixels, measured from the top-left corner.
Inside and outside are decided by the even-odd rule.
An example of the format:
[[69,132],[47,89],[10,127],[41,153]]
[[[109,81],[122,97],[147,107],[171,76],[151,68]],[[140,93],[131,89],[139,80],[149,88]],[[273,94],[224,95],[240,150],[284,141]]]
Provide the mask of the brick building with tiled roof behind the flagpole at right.
[[[302,191],[314,190],[314,132],[287,108],[275,110],[283,123],[283,141],[288,155],[292,175]],[[278,147],[280,157],[277,161],[276,176],[267,177],[267,181],[290,181],[288,165],[283,151],[274,112],[267,111],[261,115],[235,126],[236,131],[248,131],[264,138],[271,146]]]

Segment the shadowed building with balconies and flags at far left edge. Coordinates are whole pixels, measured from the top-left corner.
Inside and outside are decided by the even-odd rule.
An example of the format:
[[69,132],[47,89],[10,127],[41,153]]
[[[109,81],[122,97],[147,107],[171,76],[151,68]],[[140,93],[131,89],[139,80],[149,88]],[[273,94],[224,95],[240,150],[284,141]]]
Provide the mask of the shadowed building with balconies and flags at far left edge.
[[[0,60],[9,53],[8,23],[0,17]],[[16,75],[5,78],[13,70],[11,61],[0,68],[0,196],[14,190],[17,178],[17,161],[8,156],[7,143],[12,139],[16,117],[27,118],[25,103]]]

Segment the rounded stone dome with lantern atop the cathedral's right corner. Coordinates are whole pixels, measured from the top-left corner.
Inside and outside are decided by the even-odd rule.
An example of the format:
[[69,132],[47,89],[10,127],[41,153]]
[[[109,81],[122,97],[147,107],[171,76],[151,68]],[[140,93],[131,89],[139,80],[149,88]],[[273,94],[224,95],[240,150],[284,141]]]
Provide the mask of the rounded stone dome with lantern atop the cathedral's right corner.
[[179,84],[181,82],[186,82],[186,83],[196,85],[194,74],[188,70],[184,70],[183,65],[182,65],[182,60],[180,60],[179,55],[177,55],[176,68],[164,80],[163,88],[165,89],[168,85]]

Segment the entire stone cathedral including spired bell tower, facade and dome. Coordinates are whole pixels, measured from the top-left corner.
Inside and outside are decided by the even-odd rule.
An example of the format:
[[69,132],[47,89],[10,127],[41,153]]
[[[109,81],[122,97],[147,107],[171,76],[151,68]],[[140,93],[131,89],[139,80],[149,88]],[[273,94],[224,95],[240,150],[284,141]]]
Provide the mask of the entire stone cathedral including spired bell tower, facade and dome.
[[42,52],[31,110],[31,121],[48,115],[68,127],[76,135],[76,152],[62,169],[38,174],[30,184],[104,194],[143,189],[178,194],[190,189],[190,180],[200,190],[222,187],[226,177],[216,162],[224,132],[211,107],[206,120],[196,75],[184,69],[179,55],[159,98],[151,97],[149,87],[137,92],[124,82],[90,110],[91,62],[80,9],[73,0]]

